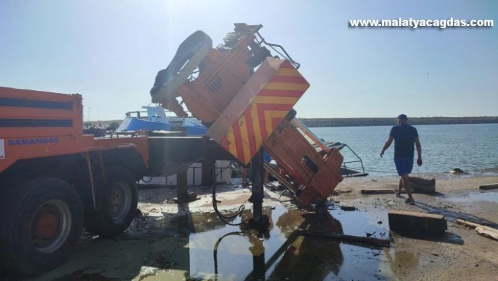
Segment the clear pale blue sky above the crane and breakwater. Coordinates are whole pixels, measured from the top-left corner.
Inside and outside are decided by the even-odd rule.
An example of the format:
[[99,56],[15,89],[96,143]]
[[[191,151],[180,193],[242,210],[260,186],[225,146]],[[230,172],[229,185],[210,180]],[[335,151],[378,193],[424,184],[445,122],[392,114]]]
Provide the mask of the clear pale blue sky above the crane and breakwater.
[[[492,19],[488,28],[350,28],[352,19]],[[1,0],[0,86],[79,93],[91,120],[151,103],[186,37],[262,24],[311,87],[298,118],[498,115],[498,1]],[[88,116],[85,117],[87,120]]]

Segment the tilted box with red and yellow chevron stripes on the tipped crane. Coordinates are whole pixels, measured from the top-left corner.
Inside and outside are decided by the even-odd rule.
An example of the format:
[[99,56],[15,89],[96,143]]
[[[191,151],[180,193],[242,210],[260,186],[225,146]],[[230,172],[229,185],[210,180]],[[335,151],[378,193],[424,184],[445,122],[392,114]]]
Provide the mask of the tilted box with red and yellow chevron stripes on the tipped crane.
[[267,58],[207,135],[248,163],[309,87],[288,61]]

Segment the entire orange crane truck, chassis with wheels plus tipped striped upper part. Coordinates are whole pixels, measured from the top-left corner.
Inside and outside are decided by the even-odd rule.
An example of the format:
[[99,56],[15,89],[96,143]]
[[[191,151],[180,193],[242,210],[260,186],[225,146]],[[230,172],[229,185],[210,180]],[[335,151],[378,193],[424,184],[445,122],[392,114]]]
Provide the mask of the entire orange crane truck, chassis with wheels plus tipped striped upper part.
[[[83,135],[81,95],[0,87],[0,267],[25,275],[55,268],[83,227],[101,236],[127,229],[143,176],[172,175],[200,160],[252,162],[253,228],[268,221],[264,168],[298,205],[326,199],[343,180],[343,156],[295,118],[309,84],[260,28],[236,24],[216,48],[194,32],[155,77],[152,101],[180,117],[188,108],[208,127],[205,137]],[[279,169],[264,163],[264,151]]]

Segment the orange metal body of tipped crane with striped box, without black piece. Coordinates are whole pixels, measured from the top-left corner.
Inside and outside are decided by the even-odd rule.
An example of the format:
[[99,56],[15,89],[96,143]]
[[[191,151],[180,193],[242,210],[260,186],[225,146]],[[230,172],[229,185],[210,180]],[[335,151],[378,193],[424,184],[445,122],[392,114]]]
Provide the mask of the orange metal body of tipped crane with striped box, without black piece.
[[241,163],[248,163],[264,146],[286,171],[302,205],[326,199],[343,180],[339,173],[343,157],[321,142],[315,142],[317,151],[312,144],[317,139],[307,128],[285,120],[308,82],[280,58],[266,58],[251,73],[247,62],[256,44],[255,33],[237,36],[241,39],[229,51],[211,49],[200,63],[198,77],[184,82],[175,94],[194,117],[208,124],[207,135]]

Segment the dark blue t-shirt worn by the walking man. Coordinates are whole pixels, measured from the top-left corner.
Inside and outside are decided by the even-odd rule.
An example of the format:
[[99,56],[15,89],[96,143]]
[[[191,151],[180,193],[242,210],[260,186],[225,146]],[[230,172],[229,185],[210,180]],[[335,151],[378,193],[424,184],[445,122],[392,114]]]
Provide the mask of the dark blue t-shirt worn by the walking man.
[[395,141],[395,157],[414,157],[415,138],[419,137],[419,132],[406,123],[395,125],[389,133]]

